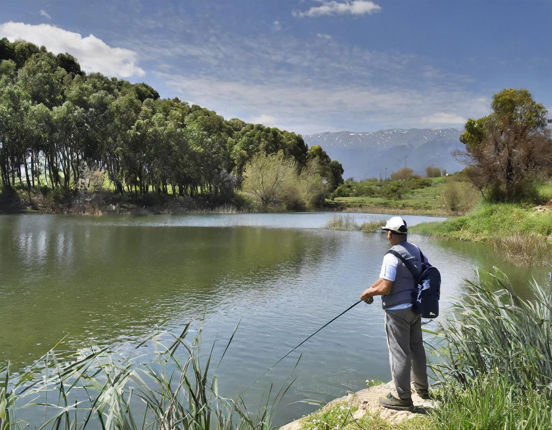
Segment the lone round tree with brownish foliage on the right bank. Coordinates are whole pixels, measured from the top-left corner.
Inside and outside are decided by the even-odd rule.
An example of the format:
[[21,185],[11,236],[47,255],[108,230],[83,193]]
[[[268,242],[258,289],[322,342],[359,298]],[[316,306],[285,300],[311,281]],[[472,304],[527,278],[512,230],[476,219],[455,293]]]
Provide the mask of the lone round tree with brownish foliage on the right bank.
[[531,184],[552,173],[552,141],[548,112],[527,90],[506,88],[495,93],[489,116],[468,119],[457,156],[487,198],[519,201]]

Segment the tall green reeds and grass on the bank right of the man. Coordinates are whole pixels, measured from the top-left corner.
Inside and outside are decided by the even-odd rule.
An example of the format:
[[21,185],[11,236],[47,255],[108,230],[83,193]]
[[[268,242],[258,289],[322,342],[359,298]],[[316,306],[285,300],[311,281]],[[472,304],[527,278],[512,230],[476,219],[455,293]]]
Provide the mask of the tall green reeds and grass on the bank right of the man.
[[526,300],[500,270],[479,275],[436,333],[432,417],[439,428],[552,428],[550,290],[532,281]]

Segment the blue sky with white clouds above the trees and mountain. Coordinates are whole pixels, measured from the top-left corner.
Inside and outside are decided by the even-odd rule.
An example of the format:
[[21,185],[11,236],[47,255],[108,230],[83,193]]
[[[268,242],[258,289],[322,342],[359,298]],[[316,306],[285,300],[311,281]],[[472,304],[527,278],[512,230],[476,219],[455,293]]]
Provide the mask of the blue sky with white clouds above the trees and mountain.
[[527,88],[552,117],[552,0],[0,0],[0,38],[301,134],[463,128]]

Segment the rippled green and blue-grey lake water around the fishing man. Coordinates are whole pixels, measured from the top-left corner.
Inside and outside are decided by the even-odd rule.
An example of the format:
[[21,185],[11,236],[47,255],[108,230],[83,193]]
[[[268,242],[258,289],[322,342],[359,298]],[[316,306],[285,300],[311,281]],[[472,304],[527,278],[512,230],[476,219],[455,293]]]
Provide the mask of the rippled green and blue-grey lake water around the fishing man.
[[[63,349],[110,345],[125,353],[156,328],[179,333],[202,318],[204,342],[222,339],[216,355],[241,317],[217,372],[222,394],[233,396],[379,277],[385,235],[323,229],[332,216],[1,216],[0,361],[23,369],[65,336]],[[359,224],[389,217],[350,216]],[[434,220],[405,218],[409,225]],[[476,268],[498,266],[524,296],[530,276],[549,284],[549,268],[515,268],[492,246],[409,240],[440,269],[443,308]],[[264,386],[282,386],[299,352],[300,376],[277,424],[362,389],[367,379],[390,380],[380,299],[360,303],[302,345],[253,387],[248,403]]]

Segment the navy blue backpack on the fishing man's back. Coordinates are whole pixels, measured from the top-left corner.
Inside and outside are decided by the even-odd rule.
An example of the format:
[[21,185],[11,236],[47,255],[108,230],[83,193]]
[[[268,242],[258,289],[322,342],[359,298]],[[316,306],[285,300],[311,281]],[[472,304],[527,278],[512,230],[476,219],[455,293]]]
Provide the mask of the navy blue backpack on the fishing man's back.
[[393,254],[405,264],[416,282],[412,295],[412,310],[422,314],[422,318],[437,318],[439,315],[439,298],[441,295],[441,274],[436,267],[424,262],[424,256],[420,251],[422,270],[418,271],[410,260],[405,260],[397,251],[390,249],[387,254]]

